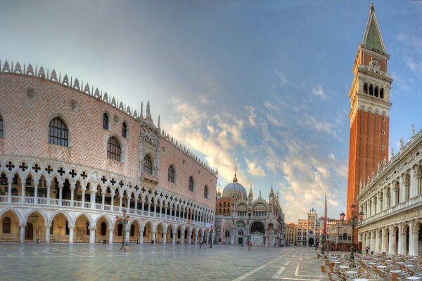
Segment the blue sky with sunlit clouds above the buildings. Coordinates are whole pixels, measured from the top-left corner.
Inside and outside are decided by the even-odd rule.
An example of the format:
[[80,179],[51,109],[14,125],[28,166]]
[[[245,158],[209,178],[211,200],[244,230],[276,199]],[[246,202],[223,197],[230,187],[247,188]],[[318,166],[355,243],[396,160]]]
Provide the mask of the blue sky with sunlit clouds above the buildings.
[[[422,129],[422,1],[373,1],[394,78],[390,146]],[[352,67],[370,1],[0,1],[0,59],[89,81],[286,222],[346,209]],[[156,124],[156,123],[155,123]]]

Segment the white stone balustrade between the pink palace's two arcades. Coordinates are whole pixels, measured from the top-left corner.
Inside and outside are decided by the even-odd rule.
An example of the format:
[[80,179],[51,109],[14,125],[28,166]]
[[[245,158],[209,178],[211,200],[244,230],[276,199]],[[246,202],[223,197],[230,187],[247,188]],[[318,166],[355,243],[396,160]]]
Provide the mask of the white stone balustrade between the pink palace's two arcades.
[[[24,202],[22,203],[22,197],[21,196],[11,196],[11,202],[8,202],[8,196],[7,195],[0,195],[0,207],[1,206],[5,206],[5,205],[23,205],[23,206],[50,206],[50,207],[65,207],[66,209],[91,209],[92,211],[106,211],[108,213],[110,212],[117,212],[119,213],[119,206],[110,206],[108,204],[100,204],[100,203],[95,203],[95,209],[91,208],[91,202],[81,202],[81,201],[73,201],[73,207],[72,207],[72,201],[71,200],[61,200],[61,205],[60,205],[60,200],[56,199],[56,198],[50,198],[49,199],[49,204],[48,204],[48,200],[46,197],[39,197],[37,200],[37,204],[34,204],[35,202],[35,198],[34,197],[25,197]],[[84,208],[82,208],[82,203],[84,203]],[[127,208],[122,207],[121,210],[125,210]],[[153,210],[151,210],[149,212],[149,216],[148,216],[148,211],[143,211],[142,209],[129,209],[129,214],[131,214],[131,216],[147,216],[147,217],[151,217],[151,218],[163,218],[163,219],[167,219],[168,221],[178,221],[178,222],[182,222],[182,223],[191,223],[193,225],[196,226],[205,226],[205,223],[203,222],[199,222],[199,221],[192,221],[192,220],[188,220],[186,218],[180,218],[179,216],[171,216],[171,215],[167,215],[167,214],[160,214],[160,213],[154,213]]]

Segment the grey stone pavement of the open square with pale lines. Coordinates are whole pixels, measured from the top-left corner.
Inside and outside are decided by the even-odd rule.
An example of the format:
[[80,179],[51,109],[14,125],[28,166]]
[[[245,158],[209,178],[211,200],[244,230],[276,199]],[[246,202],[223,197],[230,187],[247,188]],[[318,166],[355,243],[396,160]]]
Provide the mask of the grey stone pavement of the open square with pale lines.
[[318,280],[312,247],[0,244],[0,280]]

